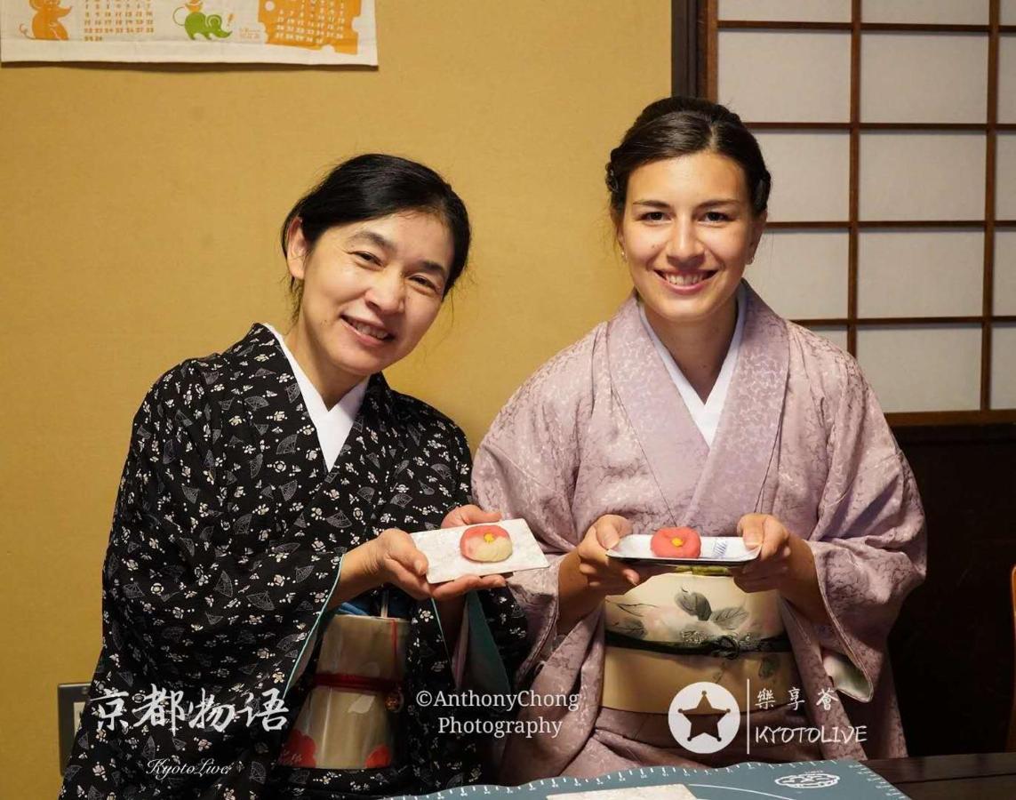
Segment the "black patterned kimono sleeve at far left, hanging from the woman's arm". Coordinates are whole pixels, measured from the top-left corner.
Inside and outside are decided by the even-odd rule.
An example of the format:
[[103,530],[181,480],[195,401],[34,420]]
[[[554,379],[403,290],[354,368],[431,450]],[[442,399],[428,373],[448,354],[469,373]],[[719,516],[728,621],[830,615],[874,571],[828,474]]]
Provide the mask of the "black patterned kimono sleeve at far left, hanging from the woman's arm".
[[281,689],[340,554],[315,551],[297,526],[259,546],[245,538],[260,506],[228,504],[228,492],[254,489],[225,480],[215,427],[186,369],[156,383],[134,420],[104,572],[109,643],[167,681]]

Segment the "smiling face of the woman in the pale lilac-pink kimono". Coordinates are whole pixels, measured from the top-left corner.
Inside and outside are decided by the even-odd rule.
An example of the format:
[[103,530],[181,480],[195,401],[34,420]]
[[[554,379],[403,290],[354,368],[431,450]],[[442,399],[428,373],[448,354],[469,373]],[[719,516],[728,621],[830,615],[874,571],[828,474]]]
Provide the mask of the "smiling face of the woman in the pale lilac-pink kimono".
[[653,327],[733,325],[764,226],[744,170],[725,156],[703,150],[634,170],[618,241]]

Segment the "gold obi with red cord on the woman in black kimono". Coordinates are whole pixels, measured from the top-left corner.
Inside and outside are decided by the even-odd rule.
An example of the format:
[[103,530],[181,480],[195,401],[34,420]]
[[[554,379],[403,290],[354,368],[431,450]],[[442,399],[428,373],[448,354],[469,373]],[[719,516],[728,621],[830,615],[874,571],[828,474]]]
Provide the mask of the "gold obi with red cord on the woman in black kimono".
[[314,687],[282,748],[281,763],[328,770],[392,763],[408,631],[407,620],[393,617],[331,618]]

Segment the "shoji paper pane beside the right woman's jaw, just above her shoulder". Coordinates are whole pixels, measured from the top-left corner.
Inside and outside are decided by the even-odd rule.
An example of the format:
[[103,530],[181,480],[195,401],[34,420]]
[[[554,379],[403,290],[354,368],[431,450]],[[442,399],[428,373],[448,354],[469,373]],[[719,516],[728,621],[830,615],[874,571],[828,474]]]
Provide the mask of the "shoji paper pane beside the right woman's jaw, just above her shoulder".
[[745,276],[784,317],[845,317],[847,248],[845,232],[769,231]]

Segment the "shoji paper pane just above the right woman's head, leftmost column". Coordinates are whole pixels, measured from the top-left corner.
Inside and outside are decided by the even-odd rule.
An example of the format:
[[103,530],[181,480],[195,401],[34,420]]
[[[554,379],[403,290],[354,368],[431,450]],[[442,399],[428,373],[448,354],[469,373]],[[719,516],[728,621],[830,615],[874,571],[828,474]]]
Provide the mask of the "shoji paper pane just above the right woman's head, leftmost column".
[[743,120],[849,121],[849,34],[720,30],[718,52],[716,96]]

